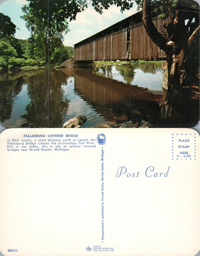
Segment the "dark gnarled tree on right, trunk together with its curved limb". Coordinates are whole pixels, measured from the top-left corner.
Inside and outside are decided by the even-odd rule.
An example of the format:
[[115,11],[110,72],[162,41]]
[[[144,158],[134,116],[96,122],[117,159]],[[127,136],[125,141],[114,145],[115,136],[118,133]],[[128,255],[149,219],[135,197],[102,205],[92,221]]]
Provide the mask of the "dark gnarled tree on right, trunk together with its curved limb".
[[[184,14],[171,15],[177,19],[174,44],[167,42],[155,28],[151,19],[151,1],[143,0],[143,23],[147,34],[167,55],[168,91],[161,104],[165,126],[192,127],[199,121],[199,27],[189,37],[185,29]],[[169,20],[168,23],[172,23]],[[168,32],[168,34],[170,34]],[[189,37],[189,39],[188,39]],[[170,38],[170,35],[169,35]]]

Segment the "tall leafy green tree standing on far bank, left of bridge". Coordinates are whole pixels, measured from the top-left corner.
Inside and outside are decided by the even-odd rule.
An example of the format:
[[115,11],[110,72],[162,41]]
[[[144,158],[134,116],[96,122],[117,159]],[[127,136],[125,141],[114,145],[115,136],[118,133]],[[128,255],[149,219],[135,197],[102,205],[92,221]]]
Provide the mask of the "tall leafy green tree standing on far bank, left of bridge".
[[24,15],[21,18],[26,21],[26,27],[31,32],[30,40],[35,47],[30,50],[33,54],[43,51],[46,62],[54,48],[62,44],[63,34],[68,32],[68,22],[60,16],[59,2],[63,1],[32,1],[22,8]]

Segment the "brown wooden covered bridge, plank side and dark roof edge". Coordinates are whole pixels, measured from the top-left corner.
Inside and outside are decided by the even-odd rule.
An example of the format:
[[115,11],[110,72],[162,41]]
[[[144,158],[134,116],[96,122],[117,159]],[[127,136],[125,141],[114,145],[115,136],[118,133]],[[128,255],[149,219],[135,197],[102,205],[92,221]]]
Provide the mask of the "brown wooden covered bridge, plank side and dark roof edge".
[[[150,40],[141,18],[141,12],[137,12],[75,44],[74,61],[165,58],[165,52]],[[164,20],[155,18],[153,23],[164,35]]]

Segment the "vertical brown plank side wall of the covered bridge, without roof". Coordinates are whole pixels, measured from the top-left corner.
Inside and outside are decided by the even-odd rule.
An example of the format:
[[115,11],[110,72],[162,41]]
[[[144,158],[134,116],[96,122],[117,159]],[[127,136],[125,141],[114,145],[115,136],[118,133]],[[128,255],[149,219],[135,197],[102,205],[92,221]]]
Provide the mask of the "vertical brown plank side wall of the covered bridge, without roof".
[[[163,20],[154,21],[159,32],[163,32]],[[106,35],[95,41],[75,47],[75,61],[126,59],[127,28]],[[146,34],[143,23],[130,27],[130,59],[156,60],[165,58],[165,52],[159,49]]]

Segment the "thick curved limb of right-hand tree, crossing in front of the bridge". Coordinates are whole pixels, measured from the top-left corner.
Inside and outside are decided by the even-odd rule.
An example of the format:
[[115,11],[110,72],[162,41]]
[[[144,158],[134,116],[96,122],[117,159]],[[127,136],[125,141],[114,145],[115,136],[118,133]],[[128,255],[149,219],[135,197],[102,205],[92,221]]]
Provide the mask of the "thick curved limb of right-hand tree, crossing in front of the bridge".
[[142,9],[142,21],[144,24],[144,28],[147,32],[147,35],[156,44],[161,50],[167,52],[167,38],[163,37],[158,30],[156,29],[155,25],[153,24],[152,17],[151,17],[151,1],[150,0],[143,0],[143,9]]

